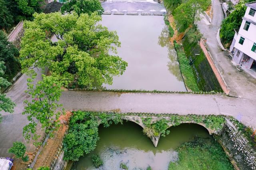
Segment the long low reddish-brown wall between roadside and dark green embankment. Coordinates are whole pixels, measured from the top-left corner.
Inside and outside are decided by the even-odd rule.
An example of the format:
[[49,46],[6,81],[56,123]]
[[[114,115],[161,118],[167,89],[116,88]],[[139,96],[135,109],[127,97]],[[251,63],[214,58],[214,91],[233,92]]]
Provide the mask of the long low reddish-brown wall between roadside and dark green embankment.
[[220,75],[220,71],[218,70],[217,66],[215,65],[215,63],[212,59],[212,56],[210,55],[209,51],[206,49],[204,41],[202,39],[200,40],[199,45],[202,48],[204,55],[206,56],[206,59],[208,60],[210,66],[212,67],[212,71],[214,72],[216,78],[218,79],[218,82],[220,83],[222,90],[224,91],[224,93],[226,93],[228,95],[230,92],[230,89],[228,88],[228,85],[224,81],[222,75]]

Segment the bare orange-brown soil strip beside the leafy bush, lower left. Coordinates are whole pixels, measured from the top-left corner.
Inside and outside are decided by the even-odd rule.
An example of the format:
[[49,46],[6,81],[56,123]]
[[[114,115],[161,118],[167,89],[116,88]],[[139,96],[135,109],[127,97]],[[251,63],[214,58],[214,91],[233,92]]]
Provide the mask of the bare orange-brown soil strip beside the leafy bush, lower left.
[[68,130],[68,121],[70,116],[72,115],[71,112],[66,112],[65,115],[61,115],[60,120],[60,127],[57,131],[54,132],[54,137],[49,138],[47,143],[44,145],[44,149],[39,154],[34,169],[39,168],[40,166],[49,166],[52,160],[55,157],[55,154],[58,152],[58,148],[61,145],[61,142],[64,138],[66,130]]

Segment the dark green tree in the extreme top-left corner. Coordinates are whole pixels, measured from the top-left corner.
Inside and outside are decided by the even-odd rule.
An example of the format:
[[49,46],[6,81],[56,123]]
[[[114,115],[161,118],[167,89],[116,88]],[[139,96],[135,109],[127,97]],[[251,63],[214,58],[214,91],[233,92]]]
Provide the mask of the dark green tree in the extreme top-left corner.
[[12,26],[13,23],[13,16],[7,8],[7,3],[4,0],[0,0],[0,29],[4,28],[8,32],[8,28]]

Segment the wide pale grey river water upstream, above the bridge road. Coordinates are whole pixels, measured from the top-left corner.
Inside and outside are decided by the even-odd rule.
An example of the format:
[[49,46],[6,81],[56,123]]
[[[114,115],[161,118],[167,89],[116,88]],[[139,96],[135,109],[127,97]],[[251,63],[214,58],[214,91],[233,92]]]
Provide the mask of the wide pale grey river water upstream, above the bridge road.
[[101,24],[117,32],[118,55],[128,62],[106,89],[186,91],[164,16],[102,15]]

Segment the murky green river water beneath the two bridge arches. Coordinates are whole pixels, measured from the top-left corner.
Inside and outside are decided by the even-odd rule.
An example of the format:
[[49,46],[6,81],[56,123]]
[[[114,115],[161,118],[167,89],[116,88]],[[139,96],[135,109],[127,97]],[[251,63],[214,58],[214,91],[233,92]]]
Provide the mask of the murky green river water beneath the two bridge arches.
[[119,170],[121,162],[129,170],[146,169],[167,170],[170,161],[176,161],[175,149],[184,142],[193,141],[195,137],[211,137],[206,128],[197,124],[181,124],[169,128],[170,134],[161,137],[157,147],[143,134],[142,127],[133,122],[123,125],[99,127],[100,140],[96,149],[74,162],[72,170],[93,170],[92,154],[98,154],[103,160],[102,170]]

